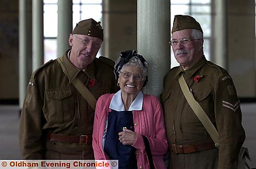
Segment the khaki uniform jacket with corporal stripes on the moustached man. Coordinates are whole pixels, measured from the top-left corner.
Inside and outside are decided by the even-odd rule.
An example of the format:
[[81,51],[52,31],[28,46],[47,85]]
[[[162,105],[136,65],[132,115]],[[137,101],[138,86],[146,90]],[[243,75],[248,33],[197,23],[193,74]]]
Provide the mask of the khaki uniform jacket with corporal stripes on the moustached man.
[[[169,147],[171,144],[195,145],[211,141],[211,137],[188,105],[178,82],[184,79],[194,98],[204,109],[219,133],[217,148],[206,151],[170,154],[170,168],[237,168],[238,155],[245,139],[241,125],[242,113],[231,77],[220,66],[202,57],[188,70],[175,67],[164,78],[161,100],[164,106],[165,126]],[[195,76],[203,76],[200,81]]]

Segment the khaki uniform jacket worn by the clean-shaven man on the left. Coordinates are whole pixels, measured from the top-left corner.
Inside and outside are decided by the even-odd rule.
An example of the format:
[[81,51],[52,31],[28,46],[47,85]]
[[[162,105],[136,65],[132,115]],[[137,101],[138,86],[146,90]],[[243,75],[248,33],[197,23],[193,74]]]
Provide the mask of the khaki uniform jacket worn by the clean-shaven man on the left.
[[113,61],[95,58],[86,69],[79,70],[69,61],[69,51],[63,55],[68,77],[56,59],[42,65],[31,77],[19,128],[19,147],[25,159],[72,158],[47,155],[49,146],[63,154],[69,150],[74,153],[84,151],[84,159],[94,159],[92,143],[50,142],[45,138],[47,133],[70,136],[93,133],[94,110],[73,86],[75,77],[89,88],[96,99],[102,94],[118,91]]

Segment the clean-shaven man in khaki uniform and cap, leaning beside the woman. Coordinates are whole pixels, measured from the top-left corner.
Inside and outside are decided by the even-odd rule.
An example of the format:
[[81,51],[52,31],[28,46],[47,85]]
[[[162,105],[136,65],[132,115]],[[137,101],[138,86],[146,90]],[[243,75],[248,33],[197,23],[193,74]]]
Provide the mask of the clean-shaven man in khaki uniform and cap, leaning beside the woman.
[[94,159],[96,100],[118,89],[115,63],[96,58],[102,41],[100,22],[82,20],[70,34],[71,49],[33,73],[19,128],[24,159]]

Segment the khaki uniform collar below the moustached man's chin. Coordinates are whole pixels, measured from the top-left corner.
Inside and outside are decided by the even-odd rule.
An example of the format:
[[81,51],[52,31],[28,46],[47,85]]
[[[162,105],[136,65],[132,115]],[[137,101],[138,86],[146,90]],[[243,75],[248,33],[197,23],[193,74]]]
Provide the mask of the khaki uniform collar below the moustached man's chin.
[[199,59],[199,61],[194,65],[192,66],[191,68],[187,69],[187,70],[184,70],[182,68],[182,66],[180,65],[176,75],[175,75],[175,78],[181,73],[181,72],[184,72],[188,78],[191,78],[198,69],[200,69],[205,63],[206,63],[206,59],[205,59],[205,56],[201,57]]

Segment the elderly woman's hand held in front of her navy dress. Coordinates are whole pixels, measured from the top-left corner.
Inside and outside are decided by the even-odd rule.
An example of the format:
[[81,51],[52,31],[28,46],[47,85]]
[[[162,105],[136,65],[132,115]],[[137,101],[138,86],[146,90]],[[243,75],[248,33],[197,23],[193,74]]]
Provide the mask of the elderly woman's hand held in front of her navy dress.
[[137,139],[137,134],[132,130],[123,129],[124,131],[118,133],[119,140],[123,145],[132,145]]

